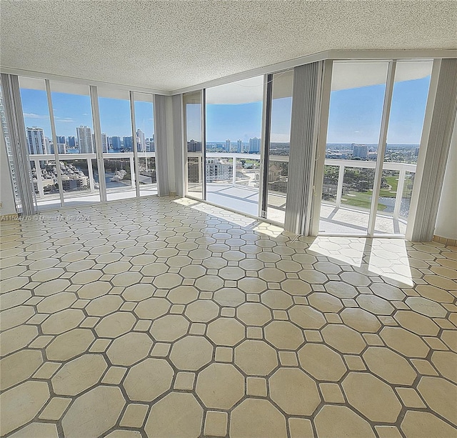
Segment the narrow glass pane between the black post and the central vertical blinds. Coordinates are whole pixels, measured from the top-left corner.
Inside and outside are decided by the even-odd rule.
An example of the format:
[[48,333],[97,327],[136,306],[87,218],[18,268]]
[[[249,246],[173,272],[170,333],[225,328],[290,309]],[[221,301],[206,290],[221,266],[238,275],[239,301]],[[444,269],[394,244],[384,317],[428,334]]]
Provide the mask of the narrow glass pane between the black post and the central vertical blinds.
[[284,223],[291,141],[293,71],[273,74],[266,217]]

